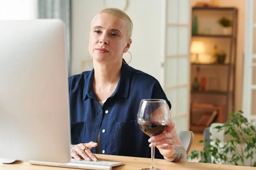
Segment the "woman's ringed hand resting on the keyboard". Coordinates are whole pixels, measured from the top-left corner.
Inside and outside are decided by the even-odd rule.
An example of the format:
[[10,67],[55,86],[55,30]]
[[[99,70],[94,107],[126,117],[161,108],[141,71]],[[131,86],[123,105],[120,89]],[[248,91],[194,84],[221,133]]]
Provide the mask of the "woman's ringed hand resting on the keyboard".
[[[98,161],[98,158],[90,151],[92,147],[96,147],[97,145],[97,143],[92,141],[85,144],[77,144],[71,149],[71,157],[76,160]],[[90,149],[83,150],[85,146]]]

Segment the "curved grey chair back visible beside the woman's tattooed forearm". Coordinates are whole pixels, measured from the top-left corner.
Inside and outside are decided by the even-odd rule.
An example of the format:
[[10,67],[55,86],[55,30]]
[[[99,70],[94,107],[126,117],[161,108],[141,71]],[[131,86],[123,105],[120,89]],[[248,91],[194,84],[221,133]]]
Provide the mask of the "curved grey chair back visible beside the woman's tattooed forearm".
[[194,133],[192,131],[177,131],[181,143],[186,149],[186,153],[189,153],[190,147],[194,140]]

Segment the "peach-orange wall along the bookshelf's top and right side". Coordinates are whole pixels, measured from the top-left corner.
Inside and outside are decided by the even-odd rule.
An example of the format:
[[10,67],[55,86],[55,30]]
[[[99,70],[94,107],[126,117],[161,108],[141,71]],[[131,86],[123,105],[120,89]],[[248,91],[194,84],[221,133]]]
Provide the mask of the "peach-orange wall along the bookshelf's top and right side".
[[[191,0],[194,6],[202,0]],[[204,0],[210,3],[211,0]],[[222,7],[238,8],[238,31],[237,31],[237,51],[236,51],[236,91],[235,91],[235,109],[242,109],[242,90],[243,90],[243,54],[244,54],[244,29],[245,29],[245,6],[246,0],[218,0]]]

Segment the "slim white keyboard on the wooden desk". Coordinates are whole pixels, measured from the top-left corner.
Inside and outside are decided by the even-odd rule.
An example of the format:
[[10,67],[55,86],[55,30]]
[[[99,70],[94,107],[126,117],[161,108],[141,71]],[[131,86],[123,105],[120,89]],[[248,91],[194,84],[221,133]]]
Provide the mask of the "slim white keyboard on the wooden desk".
[[44,162],[44,161],[29,161],[30,164],[53,166],[53,167],[67,167],[67,168],[77,168],[86,170],[111,170],[114,166],[122,165],[122,162],[113,161],[85,161],[76,159],[71,159],[69,163],[56,163],[56,162]]

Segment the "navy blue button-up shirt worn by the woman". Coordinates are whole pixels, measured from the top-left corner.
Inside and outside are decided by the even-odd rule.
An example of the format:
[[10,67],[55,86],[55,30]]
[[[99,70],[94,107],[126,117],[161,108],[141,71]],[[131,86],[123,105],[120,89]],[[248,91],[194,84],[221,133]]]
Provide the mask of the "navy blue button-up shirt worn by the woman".
[[[71,143],[96,142],[100,130],[101,153],[151,158],[149,136],[140,130],[137,113],[142,99],[165,99],[171,108],[160,83],[123,63],[116,90],[101,107],[93,91],[93,76],[94,70],[68,79]],[[155,158],[163,159],[157,148]]]

